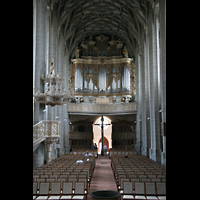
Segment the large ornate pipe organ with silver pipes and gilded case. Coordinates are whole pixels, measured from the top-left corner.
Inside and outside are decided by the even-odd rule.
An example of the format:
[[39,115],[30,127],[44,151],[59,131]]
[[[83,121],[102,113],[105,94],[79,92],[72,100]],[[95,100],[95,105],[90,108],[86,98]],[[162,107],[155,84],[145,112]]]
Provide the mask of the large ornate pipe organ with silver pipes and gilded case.
[[135,100],[135,64],[128,57],[124,41],[114,36],[90,36],[81,41],[71,61],[69,92],[78,103]]

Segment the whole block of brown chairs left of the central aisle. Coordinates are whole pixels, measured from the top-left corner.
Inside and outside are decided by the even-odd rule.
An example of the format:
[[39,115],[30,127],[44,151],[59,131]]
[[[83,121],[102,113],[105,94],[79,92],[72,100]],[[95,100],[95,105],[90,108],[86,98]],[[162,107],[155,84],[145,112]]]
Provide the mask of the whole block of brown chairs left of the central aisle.
[[[66,191],[64,186],[65,183],[71,184],[70,187],[72,188],[72,194],[77,194],[76,183],[84,183],[84,195],[87,199],[88,185],[90,187],[90,181],[95,167],[95,157],[90,157],[89,162],[87,159],[88,157],[85,157],[85,155],[63,155],[43,166],[34,169],[33,185],[36,187],[34,197],[36,199],[54,198],[50,196],[52,195],[52,190],[54,191],[54,183],[58,183],[56,185],[59,185],[60,195],[62,194],[63,190],[64,192]],[[82,160],[83,162],[77,163],[77,160]],[[47,197],[44,197],[45,195],[41,193],[41,183],[42,185],[46,185],[46,187],[48,185],[48,195],[45,194]],[[59,198],[63,199],[64,197],[60,196]],[[73,196],[72,198],[76,199],[77,195]]]

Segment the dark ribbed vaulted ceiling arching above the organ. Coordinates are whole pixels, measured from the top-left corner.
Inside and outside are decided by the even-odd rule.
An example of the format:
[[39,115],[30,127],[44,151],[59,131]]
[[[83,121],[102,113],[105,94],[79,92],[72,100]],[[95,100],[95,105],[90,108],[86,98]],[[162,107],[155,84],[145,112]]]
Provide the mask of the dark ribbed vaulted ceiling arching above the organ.
[[48,0],[50,16],[57,9],[58,35],[63,34],[71,57],[83,38],[100,34],[124,40],[134,57],[148,6],[156,4],[158,0]]

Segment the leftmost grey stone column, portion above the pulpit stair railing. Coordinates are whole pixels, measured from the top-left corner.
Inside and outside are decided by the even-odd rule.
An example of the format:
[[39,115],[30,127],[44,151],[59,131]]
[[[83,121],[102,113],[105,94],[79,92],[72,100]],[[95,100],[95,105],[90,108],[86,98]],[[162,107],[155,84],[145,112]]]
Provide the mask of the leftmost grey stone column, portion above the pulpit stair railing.
[[[43,92],[41,75],[45,75],[47,1],[33,1],[33,88]],[[33,101],[33,124],[43,119],[44,106]]]

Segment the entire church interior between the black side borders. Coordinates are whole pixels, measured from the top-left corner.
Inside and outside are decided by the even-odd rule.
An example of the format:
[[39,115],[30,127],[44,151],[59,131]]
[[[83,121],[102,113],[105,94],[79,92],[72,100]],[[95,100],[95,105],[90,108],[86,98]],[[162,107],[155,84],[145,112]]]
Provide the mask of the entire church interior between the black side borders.
[[166,0],[33,0],[33,199],[104,190],[166,199]]

